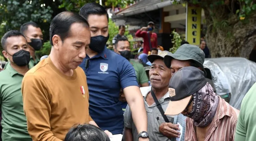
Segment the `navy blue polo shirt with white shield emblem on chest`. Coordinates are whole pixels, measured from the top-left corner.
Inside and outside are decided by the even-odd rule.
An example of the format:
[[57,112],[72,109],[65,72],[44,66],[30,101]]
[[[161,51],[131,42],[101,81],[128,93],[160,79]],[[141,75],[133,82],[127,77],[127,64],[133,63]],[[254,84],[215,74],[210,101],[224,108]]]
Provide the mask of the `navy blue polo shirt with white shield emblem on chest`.
[[[85,61],[89,62],[87,67]],[[105,47],[102,53],[90,58],[86,55],[80,65],[85,71],[89,88],[89,113],[103,130],[122,134],[124,119],[120,89],[139,86],[131,63]]]

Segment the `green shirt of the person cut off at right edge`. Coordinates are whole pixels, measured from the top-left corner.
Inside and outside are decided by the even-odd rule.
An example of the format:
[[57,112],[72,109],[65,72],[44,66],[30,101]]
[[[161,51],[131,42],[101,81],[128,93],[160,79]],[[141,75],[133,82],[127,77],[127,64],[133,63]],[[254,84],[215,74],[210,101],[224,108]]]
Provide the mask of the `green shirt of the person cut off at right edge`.
[[237,121],[235,141],[256,141],[256,83],[245,94]]

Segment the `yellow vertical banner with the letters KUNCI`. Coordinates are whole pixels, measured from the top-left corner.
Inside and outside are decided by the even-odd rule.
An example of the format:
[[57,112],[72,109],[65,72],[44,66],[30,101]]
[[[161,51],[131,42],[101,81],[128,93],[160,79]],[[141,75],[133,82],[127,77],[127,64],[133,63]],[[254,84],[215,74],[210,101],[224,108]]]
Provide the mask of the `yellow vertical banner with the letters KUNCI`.
[[187,4],[186,41],[189,44],[200,45],[201,12],[201,7]]

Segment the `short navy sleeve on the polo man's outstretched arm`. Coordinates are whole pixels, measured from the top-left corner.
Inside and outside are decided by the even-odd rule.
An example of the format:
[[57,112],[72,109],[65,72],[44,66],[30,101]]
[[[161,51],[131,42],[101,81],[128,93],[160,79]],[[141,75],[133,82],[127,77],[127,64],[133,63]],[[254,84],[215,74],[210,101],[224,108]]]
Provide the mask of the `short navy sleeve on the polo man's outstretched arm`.
[[129,86],[139,86],[135,70],[128,60],[121,60],[118,64],[119,80],[122,90]]

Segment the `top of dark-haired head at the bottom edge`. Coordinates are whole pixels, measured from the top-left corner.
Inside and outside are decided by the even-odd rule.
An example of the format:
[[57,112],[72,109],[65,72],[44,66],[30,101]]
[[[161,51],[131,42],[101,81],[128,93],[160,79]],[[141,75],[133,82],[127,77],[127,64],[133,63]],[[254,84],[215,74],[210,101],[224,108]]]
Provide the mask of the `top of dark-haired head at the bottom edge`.
[[64,141],[110,141],[110,139],[102,129],[92,124],[79,124],[68,131]]

